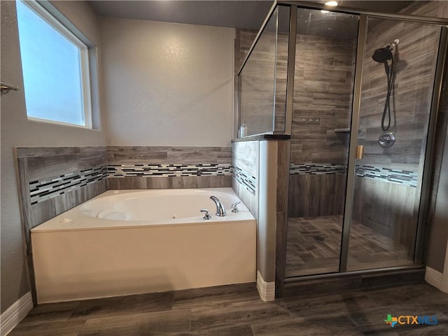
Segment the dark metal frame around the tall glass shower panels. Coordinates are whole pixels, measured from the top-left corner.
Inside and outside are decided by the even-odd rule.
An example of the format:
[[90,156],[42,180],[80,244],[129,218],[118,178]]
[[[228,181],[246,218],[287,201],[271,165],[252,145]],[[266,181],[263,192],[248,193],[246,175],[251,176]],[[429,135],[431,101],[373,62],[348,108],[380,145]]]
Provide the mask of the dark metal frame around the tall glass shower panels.
[[[448,19],[445,18],[428,18],[418,15],[402,15],[402,14],[392,14],[392,13],[377,13],[369,10],[353,10],[353,8],[327,8],[322,3],[307,3],[302,1],[274,1],[274,6],[290,6],[290,36],[288,39],[288,69],[287,69],[287,84],[286,84],[286,134],[291,134],[290,124],[293,116],[293,92],[294,92],[294,73],[295,73],[295,55],[292,52],[295,51],[295,36],[297,32],[297,8],[307,8],[313,10],[329,10],[337,13],[347,13],[351,15],[358,15],[359,25],[358,25],[358,45],[356,49],[356,67],[354,73],[354,87],[353,87],[353,104],[351,111],[351,130],[350,130],[350,144],[349,144],[349,162],[347,165],[347,183],[346,183],[346,193],[345,193],[345,204],[344,204],[344,222],[342,228],[342,243],[341,243],[341,254],[339,258],[339,272],[329,273],[329,274],[317,274],[308,276],[294,276],[285,279],[286,269],[286,258],[279,258],[277,260],[278,269],[283,269],[283,272],[276,274],[276,289],[279,291],[276,297],[281,297],[283,292],[284,283],[290,281],[297,281],[299,279],[316,279],[318,277],[330,277],[339,276],[341,274],[358,274],[367,273],[381,270],[391,270],[391,269],[409,269],[415,267],[421,267],[423,260],[423,229],[424,229],[424,219],[426,214],[428,214],[429,200],[430,200],[430,179],[431,172],[433,170],[433,156],[434,156],[434,144],[435,144],[435,126],[437,124],[437,119],[439,118],[438,113],[440,109],[440,98],[442,94],[442,83],[444,81],[444,67],[447,60],[447,48],[448,48]],[[295,15],[293,15],[295,11]],[[351,228],[351,219],[353,211],[353,187],[355,179],[355,165],[356,165],[356,147],[358,144],[358,127],[360,120],[360,98],[361,98],[361,83],[363,77],[363,56],[365,51],[365,41],[367,39],[367,20],[370,18],[376,19],[391,19],[400,20],[405,22],[420,23],[425,25],[435,25],[441,28],[439,48],[437,50],[437,63],[435,65],[435,76],[433,81],[433,94],[430,103],[430,113],[429,113],[429,125],[428,134],[426,138],[426,151],[423,158],[423,175],[421,183],[421,192],[419,200],[419,214],[417,219],[417,230],[416,230],[416,244],[414,251],[414,263],[412,266],[403,267],[384,267],[377,269],[365,269],[359,271],[346,271],[346,263],[349,252],[349,234]],[[256,42],[256,41],[255,41]],[[254,43],[255,43],[254,42]],[[291,77],[290,77],[291,76]],[[287,216],[285,223],[283,225],[284,230],[281,232],[287,232]],[[286,255],[286,239],[277,239],[278,245],[277,255]],[[279,265],[283,264],[283,265]]]

